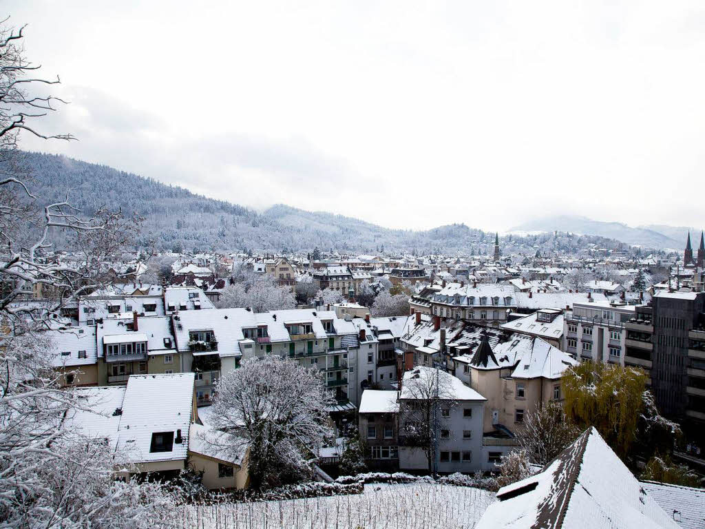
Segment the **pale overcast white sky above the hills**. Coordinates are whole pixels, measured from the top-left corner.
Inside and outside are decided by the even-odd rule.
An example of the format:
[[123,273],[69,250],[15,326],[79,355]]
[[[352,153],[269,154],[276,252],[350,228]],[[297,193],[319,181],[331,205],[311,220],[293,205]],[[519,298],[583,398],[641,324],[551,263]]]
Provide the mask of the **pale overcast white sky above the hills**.
[[3,5],[78,138],[25,149],[394,228],[703,224],[701,0]]

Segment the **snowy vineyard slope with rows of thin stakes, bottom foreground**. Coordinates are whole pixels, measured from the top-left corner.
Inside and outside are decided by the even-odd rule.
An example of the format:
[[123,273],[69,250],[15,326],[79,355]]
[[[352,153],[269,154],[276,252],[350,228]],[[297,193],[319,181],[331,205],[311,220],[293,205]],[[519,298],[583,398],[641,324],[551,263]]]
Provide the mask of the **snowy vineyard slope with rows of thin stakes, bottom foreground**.
[[469,529],[494,493],[452,485],[371,484],[364,494],[190,506],[184,529]]

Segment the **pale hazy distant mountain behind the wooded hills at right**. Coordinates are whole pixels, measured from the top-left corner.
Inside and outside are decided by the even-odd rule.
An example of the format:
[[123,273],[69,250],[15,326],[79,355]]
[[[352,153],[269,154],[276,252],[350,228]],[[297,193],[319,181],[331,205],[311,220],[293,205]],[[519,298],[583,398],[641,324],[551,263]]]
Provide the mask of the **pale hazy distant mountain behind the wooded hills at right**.
[[510,233],[558,230],[613,238],[630,245],[647,246],[649,248],[682,248],[685,246],[685,237],[675,237],[678,231],[670,232],[671,234],[669,235],[663,233],[663,230],[656,229],[657,227],[643,226],[632,228],[620,222],[603,222],[588,219],[587,217],[560,215],[525,222],[515,226],[510,230]]

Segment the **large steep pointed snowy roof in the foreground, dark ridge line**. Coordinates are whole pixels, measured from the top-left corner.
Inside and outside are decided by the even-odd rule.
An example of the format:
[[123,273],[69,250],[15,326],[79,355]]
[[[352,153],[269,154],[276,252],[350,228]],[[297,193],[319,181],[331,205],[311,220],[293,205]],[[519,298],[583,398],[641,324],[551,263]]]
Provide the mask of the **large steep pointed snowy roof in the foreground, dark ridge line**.
[[525,480],[502,487],[478,529],[678,528],[594,427]]

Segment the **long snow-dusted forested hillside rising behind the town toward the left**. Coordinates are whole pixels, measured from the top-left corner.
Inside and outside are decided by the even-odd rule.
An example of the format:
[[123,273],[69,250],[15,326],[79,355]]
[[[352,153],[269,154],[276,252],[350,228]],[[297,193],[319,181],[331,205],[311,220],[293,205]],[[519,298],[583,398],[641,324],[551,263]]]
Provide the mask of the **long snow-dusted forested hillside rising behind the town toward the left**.
[[[262,213],[222,200],[196,195],[151,178],[117,171],[54,154],[21,153],[32,176],[32,189],[49,202],[69,199],[84,214],[105,205],[136,212],[145,218],[141,247],[157,250],[321,250],[379,253],[490,253],[494,234],[451,224],[428,231],[393,230],[360,219],[326,212],[307,212],[275,205]],[[60,241],[59,241],[60,242]],[[510,236],[503,249],[532,253],[587,248],[590,243],[613,246],[595,237]]]

